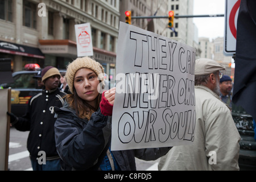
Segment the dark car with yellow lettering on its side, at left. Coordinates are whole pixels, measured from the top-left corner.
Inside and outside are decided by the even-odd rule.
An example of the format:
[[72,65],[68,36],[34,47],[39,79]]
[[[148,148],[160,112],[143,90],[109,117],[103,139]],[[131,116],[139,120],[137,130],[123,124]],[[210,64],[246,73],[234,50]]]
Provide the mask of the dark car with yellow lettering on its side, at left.
[[39,71],[14,72],[14,82],[1,85],[2,88],[11,88],[11,112],[16,116],[24,115],[26,113],[28,100],[42,91],[42,89],[38,87],[36,79],[33,78],[38,75],[38,72]]

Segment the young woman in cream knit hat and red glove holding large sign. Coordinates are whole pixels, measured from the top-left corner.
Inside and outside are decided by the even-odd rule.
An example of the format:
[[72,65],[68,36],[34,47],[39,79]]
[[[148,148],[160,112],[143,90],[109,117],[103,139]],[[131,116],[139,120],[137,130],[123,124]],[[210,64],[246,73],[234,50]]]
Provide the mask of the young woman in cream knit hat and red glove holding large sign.
[[[89,57],[68,65],[71,94],[55,107],[55,140],[63,170],[136,170],[135,156],[156,160],[170,148],[110,151],[115,88],[104,93],[104,68]],[[100,89],[98,89],[100,88]]]

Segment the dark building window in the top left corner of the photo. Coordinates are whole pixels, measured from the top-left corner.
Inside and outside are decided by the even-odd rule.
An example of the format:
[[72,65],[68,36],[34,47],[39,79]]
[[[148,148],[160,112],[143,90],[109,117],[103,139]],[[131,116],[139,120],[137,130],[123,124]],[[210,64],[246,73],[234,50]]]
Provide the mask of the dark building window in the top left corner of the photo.
[[13,22],[13,1],[2,0],[0,1],[0,19]]

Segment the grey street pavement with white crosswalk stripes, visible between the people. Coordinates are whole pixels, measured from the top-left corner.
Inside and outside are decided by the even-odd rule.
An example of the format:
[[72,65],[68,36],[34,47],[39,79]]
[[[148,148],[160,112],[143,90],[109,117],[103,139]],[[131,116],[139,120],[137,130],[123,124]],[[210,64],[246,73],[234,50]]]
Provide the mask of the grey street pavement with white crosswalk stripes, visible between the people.
[[[14,127],[10,129],[9,144],[9,170],[32,171],[29,153],[27,151],[28,131],[21,132]],[[146,162],[136,159],[138,171],[155,171],[158,169],[158,161]]]

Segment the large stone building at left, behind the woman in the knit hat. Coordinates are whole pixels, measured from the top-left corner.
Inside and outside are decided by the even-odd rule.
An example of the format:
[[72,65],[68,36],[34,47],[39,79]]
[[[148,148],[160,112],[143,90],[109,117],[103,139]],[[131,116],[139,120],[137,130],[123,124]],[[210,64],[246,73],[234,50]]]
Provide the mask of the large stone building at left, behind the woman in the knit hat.
[[13,71],[28,63],[65,69],[77,57],[75,24],[82,23],[92,28],[93,58],[106,73],[115,68],[118,0],[2,0],[0,6],[0,57],[12,59]]

